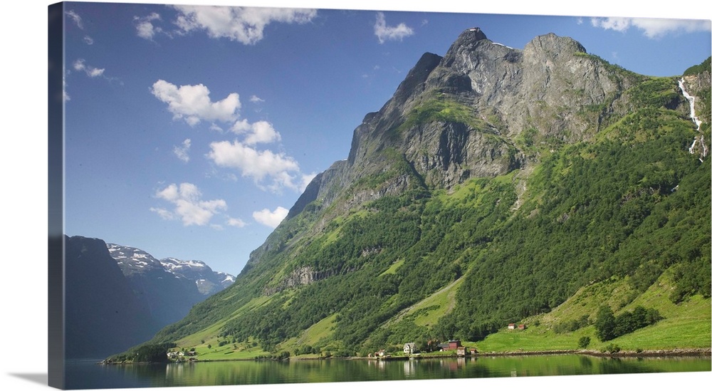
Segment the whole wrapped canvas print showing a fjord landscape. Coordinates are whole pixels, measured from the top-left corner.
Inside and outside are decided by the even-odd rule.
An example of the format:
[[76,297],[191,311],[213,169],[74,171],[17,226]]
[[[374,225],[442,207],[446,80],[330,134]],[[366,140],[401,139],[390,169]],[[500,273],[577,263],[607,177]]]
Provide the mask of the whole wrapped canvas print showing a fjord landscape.
[[710,20],[48,16],[51,386],[711,371]]

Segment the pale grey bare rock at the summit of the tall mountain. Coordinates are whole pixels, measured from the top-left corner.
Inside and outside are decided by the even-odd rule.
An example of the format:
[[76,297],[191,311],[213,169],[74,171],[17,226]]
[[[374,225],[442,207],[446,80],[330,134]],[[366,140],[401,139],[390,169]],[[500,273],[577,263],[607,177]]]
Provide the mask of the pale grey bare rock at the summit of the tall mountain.
[[[465,78],[469,90],[449,85]],[[578,115],[580,108],[612,102],[630,80],[571,38],[550,33],[518,50],[473,40],[465,32],[427,83],[431,89],[457,90],[454,98],[496,117],[501,125],[493,125],[503,135],[513,138],[534,127],[543,135],[580,140],[591,125]]]

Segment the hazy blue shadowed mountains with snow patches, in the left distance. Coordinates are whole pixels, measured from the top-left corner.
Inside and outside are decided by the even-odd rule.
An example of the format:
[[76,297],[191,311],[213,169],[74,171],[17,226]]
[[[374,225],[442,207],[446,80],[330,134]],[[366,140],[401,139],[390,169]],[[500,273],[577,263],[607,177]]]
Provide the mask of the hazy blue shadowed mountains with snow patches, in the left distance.
[[158,261],[101,239],[65,242],[68,358],[105,357],[149,340],[234,278],[201,261]]

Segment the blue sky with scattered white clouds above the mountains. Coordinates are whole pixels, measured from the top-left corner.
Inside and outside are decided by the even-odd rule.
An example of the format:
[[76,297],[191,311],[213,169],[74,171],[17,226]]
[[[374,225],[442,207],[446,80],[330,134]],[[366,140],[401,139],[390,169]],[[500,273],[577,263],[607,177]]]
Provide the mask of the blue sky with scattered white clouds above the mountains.
[[570,36],[646,75],[680,75],[711,47],[709,20],[585,11],[95,3],[65,11],[66,234],[233,274],[305,184],[347,157],[354,128],[422,53],[444,55],[465,28],[513,48],[540,34]]

